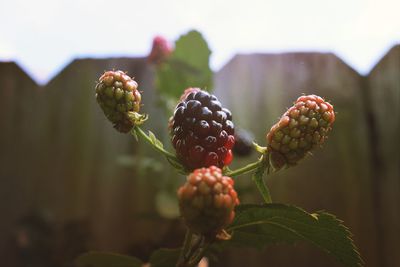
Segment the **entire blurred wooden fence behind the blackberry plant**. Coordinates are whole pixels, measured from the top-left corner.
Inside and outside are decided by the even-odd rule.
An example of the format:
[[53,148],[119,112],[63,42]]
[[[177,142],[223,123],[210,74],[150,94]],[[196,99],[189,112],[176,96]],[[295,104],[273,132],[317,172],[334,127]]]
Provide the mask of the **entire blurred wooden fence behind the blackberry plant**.
[[[44,87],[16,64],[0,63],[0,258],[8,266],[18,258],[13,247],[21,246],[32,214],[45,214],[57,237],[49,247],[62,247],[52,263],[71,263],[86,249],[145,257],[152,248],[182,239],[179,221],[154,215],[157,184],[174,187],[182,178],[174,179],[164,159],[145,144],[117,133],[95,102],[95,81],[112,68],[136,77],[151,118],[144,128],[168,140],[154,69],[144,58],[75,60]],[[300,94],[330,100],[338,114],[329,141],[298,167],[270,176],[272,197],[336,214],[354,233],[366,266],[400,265],[399,45],[368,76],[333,54],[237,55],[215,74],[215,93],[233,112],[236,126],[251,130],[260,144]],[[142,163],[155,158],[161,165],[124,165],[116,160],[121,155]],[[240,179],[243,188],[251,186]],[[244,195],[245,202],[259,200]],[[81,245],[74,235],[82,237]],[[226,255],[218,266],[338,266],[303,244]]]

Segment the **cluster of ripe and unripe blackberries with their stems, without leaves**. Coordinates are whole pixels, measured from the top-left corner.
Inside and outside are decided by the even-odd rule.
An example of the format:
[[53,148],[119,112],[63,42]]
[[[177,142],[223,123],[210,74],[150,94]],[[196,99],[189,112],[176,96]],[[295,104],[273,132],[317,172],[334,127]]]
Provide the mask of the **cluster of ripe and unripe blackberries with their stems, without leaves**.
[[[154,40],[149,59],[161,59],[159,56],[163,55],[157,53],[166,49],[164,41]],[[235,208],[239,205],[233,179],[224,176],[221,170],[231,163],[232,150],[238,156],[249,155],[252,148],[262,154],[252,164],[236,170],[225,168],[224,172],[232,177],[255,172],[253,179],[258,189],[265,202],[271,203],[268,189],[262,183],[265,169],[277,171],[284,166],[297,164],[314,147],[324,143],[335,121],[335,112],[330,103],[316,95],[301,96],[272,126],[266,136],[267,147],[261,147],[253,143],[251,133],[245,130],[235,133],[232,114],[221,106],[217,97],[200,88],[187,88],[168,121],[175,156],[164,149],[154,134],[146,134],[139,127],[147,116],[138,113],[141,95],[137,86],[124,72],[107,71],[96,85],[96,99],[118,131],[128,132],[135,126],[132,134],[136,138],[147,141],[166,156],[173,167],[185,173],[190,172],[186,182],[177,191],[180,215],[189,231],[176,266],[195,266],[210,244],[216,240],[229,240],[231,234],[238,234],[225,231],[235,229],[235,226],[228,226],[232,224]],[[247,225],[265,219],[261,214],[242,213],[241,217],[244,216],[250,221]],[[255,237],[260,230],[256,228],[253,233]]]

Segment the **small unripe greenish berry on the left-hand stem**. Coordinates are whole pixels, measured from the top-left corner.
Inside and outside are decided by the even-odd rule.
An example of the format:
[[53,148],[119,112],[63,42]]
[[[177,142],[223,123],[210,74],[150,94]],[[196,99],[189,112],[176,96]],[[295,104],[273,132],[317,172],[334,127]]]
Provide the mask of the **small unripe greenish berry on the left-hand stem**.
[[123,71],[107,71],[96,85],[96,100],[120,132],[129,132],[133,122],[128,112],[139,112],[141,95],[137,83]]

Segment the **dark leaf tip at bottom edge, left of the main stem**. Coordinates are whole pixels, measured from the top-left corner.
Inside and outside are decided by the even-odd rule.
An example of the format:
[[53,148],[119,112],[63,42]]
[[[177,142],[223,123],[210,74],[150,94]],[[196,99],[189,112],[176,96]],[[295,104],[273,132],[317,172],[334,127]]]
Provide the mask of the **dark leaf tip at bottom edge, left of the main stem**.
[[137,258],[108,252],[88,252],[76,259],[78,267],[141,267]]

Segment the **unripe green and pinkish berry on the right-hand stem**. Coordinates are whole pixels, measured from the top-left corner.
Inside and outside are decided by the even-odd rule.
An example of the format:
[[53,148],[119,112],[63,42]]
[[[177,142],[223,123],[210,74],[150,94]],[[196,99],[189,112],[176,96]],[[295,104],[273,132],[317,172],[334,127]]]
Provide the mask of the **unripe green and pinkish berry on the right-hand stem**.
[[334,121],[333,106],[324,99],[316,95],[299,97],[267,134],[273,167],[294,165],[322,145]]

